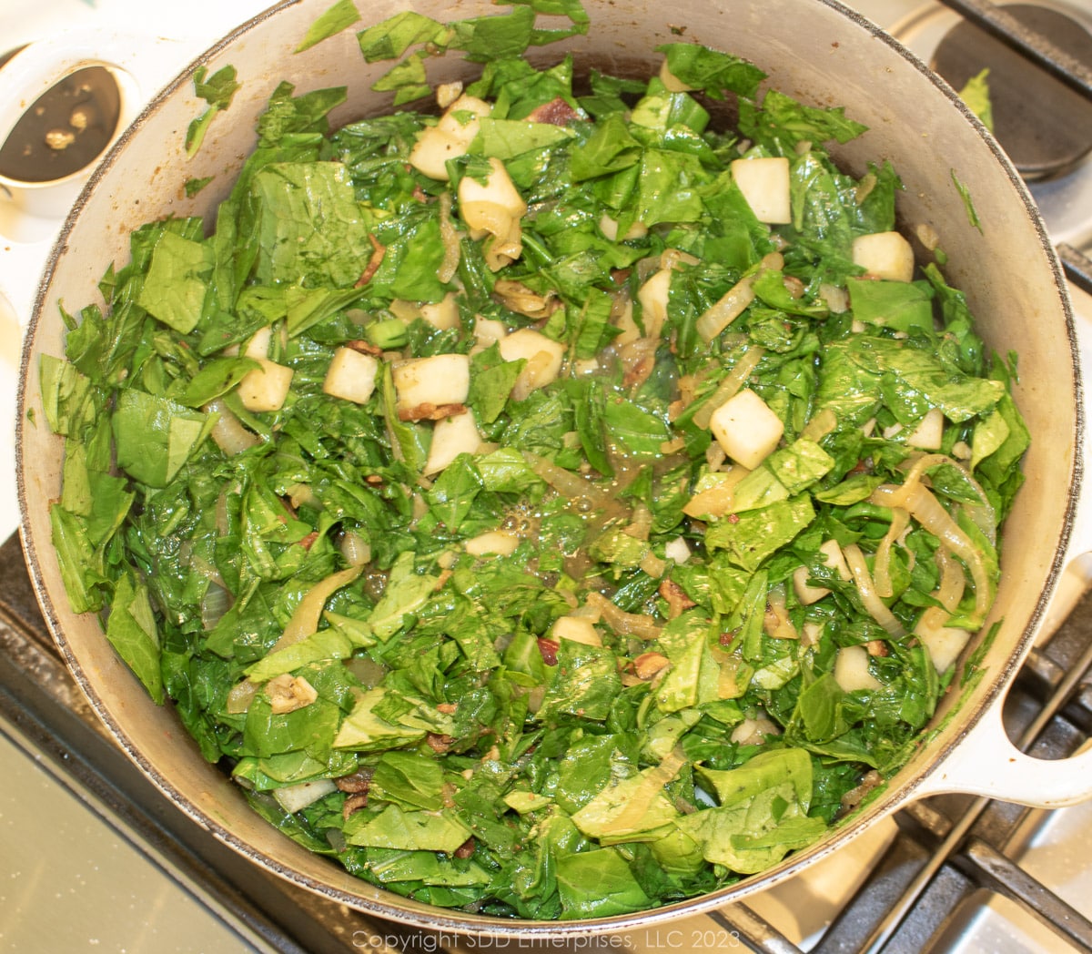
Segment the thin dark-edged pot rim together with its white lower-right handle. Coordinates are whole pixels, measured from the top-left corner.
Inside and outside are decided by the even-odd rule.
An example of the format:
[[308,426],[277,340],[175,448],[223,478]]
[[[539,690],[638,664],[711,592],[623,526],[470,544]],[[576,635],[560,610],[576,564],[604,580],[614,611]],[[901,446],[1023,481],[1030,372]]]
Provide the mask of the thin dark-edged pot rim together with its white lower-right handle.
[[[73,653],[69,640],[66,638],[63,626],[57,608],[54,603],[51,589],[47,584],[47,574],[43,569],[43,557],[38,547],[48,547],[51,544],[47,537],[35,538],[29,530],[28,510],[31,500],[28,498],[28,487],[26,473],[32,467],[32,461],[26,459],[24,454],[25,431],[29,426],[26,422],[26,410],[33,396],[27,392],[27,379],[32,358],[36,356],[34,342],[36,331],[43,320],[43,309],[45,307],[50,282],[58,268],[59,260],[67,249],[67,242],[71,231],[86,207],[88,200],[94,195],[99,182],[107,175],[111,165],[117,161],[124,150],[131,146],[134,139],[141,136],[141,130],[146,126],[151,116],[165,103],[171,94],[180,87],[190,83],[194,70],[203,64],[210,63],[216,56],[230,47],[241,38],[246,38],[256,27],[277,16],[278,14],[299,7],[307,0],[286,0],[269,10],[252,17],[241,24],[223,39],[210,47],[203,55],[187,66],[178,76],[165,86],[149,105],[126,129],[110,148],[105,158],[92,174],[90,181],[80,195],[75,205],[69,213],[60,236],[49,252],[45,272],[34,295],[34,309],[27,329],[26,341],[21,365],[20,392],[19,392],[19,414],[16,421],[16,473],[17,487],[22,522],[22,537],[27,563],[31,570],[39,602],[47,623],[72,670],[82,691],[87,695],[95,711],[108,726],[111,734],[124,749],[127,754],[140,768],[151,778],[151,780],[169,798],[181,811],[188,814],[202,827],[210,829],[219,839],[230,845],[240,853],[250,857],[263,867],[275,871],[285,879],[299,884],[310,891],[325,895],[332,900],[340,902],[355,907],[365,912],[375,914],[385,918],[403,921],[417,927],[425,927],[432,930],[451,931],[458,933],[482,933],[496,937],[523,938],[544,935],[571,935],[577,933],[586,934],[589,931],[614,931],[632,930],[648,927],[669,918],[684,915],[695,915],[722,906],[728,899],[738,900],[748,894],[764,890],[779,883],[802,869],[814,864],[819,859],[826,857],[842,845],[854,838],[860,831],[866,828],[874,821],[886,816],[898,810],[910,801],[914,801],[927,796],[940,792],[959,791],[976,794],[987,794],[1026,804],[1060,805],[1068,804],[1085,798],[1092,797],[1092,752],[1058,763],[1047,763],[1037,759],[1030,759],[1020,754],[1008,741],[1005,730],[1000,723],[1000,703],[1008,688],[1011,678],[1023,658],[1026,648],[1030,647],[1032,634],[1041,624],[1049,610],[1051,597],[1056,589],[1056,585],[1066,564],[1076,556],[1092,550],[1092,519],[1088,511],[1092,509],[1092,503],[1081,500],[1081,486],[1083,484],[1082,454],[1087,452],[1089,438],[1087,435],[1087,414],[1084,398],[1081,390],[1080,368],[1078,364],[1079,352],[1077,346],[1076,323],[1073,313],[1069,303],[1068,291],[1063,274],[1061,267],[1054,252],[1053,246],[1046,235],[1043,225],[1030,193],[1021,181],[1016,169],[1011,166],[1000,148],[985,130],[978,119],[968,109],[958,95],[947,86],[939,78],[931,73],[919,60],[906,51],[897,40],[891,38],[882,30],[875,26],[865,17],[845,8],[836,0],[819,0],[815,5],[822,5],[836,12],[846,21],[856,24],[870,34],[871,38],[886,47],[894,50],[901,57],[905,69],[914,70],[926,76],[937,86],[963,117],[970,123],[977,136],[988,144],[996,162],[1004,168],[1014,191],[1019,195],[1023,203],[1023,212],[1026,224],[1030,224],[1037,233],[1038,243],[1044,255],[1047,257],[1049,268],[1053,272],[1055,293],[1061,307],[1065,333],[1068,335],[1070,358],[1073,365],[1075,375],[1075,440],[1079,452],[1076,455],[1072,471],[1072,482],[1065,507],[1064,527],[1060,537],[1061,545],[1056,550],[1048,574],[1046,585],[1038,599],[1032,619],[1026,628],[1025,635],[1016,650],[1009,657],[1005,670],[992,674],[990,685],[981,698],[974,711],[961,712],[961,729],[952,733],[945,740],[942,746],[931,754],[928,764],[918,767],[906,779],[898,786],[898,792],[887,802],[879,806],[866,809],[851,824],[844,825],[841,829],[827,836],[812,848],[800,851],[778,865],[769,874],[757,875],[739,884],[722,888],[715,893],[679,902],[674,905],[654,908],[632,915],[614,916],[601,919],[575,920],[575,921],[531,921],[515,920],[505,921],[494,918],[483,918],[475,916],[461,916],[440,908],[427,907],[416,903],[410,903],[395,895],[366,896],[367,885],[361,883],[361,893],[355,894],[348,890],[341,890],[330,883],[323,883],[311,878],[305,872],[294,869],[278,859],[269,857],[264,851],[256,848],[245,838],[240,838],[222,821],[194,804],[189,798],[183,796],[173,780],[164,775],[142,751],[140,744],[134,742],[114,715],[105,706],[99,692],[96,688],[95,679],[90,678],[81,661]],[[812,0],[814,2],[814,0]],[[594,25],[593,25],[594,30]],[[852,104],[851,104],[852,109]],[[1085,498],[1089,494],[1085,492]],[[63,592],[58,590],[59,599],[63,600]],[[969,754],[970,753],[970,754]],[[906,772],[909,769],[904,769]],[[1046,793],[1044,796],[1044,792]],[[271,833],[276,837],[278,833],[271,828]]]

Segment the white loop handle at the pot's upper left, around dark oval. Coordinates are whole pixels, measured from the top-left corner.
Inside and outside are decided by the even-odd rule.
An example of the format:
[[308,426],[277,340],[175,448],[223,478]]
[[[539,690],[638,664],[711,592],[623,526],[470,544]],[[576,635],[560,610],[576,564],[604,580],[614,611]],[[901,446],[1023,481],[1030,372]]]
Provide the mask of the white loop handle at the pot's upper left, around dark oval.
[[[108,69],[118,85],[117,139],[156,91],[205,45],[198,38],[87,28],[29,43],[0,69],[0,143],[39,96],[64,76],[93,66]],[[51,182],[22,184],[0,175],[0,295],[8,299],[21,326],[29,319],[41,270],[60,225],[96,164],[97,160]]]

